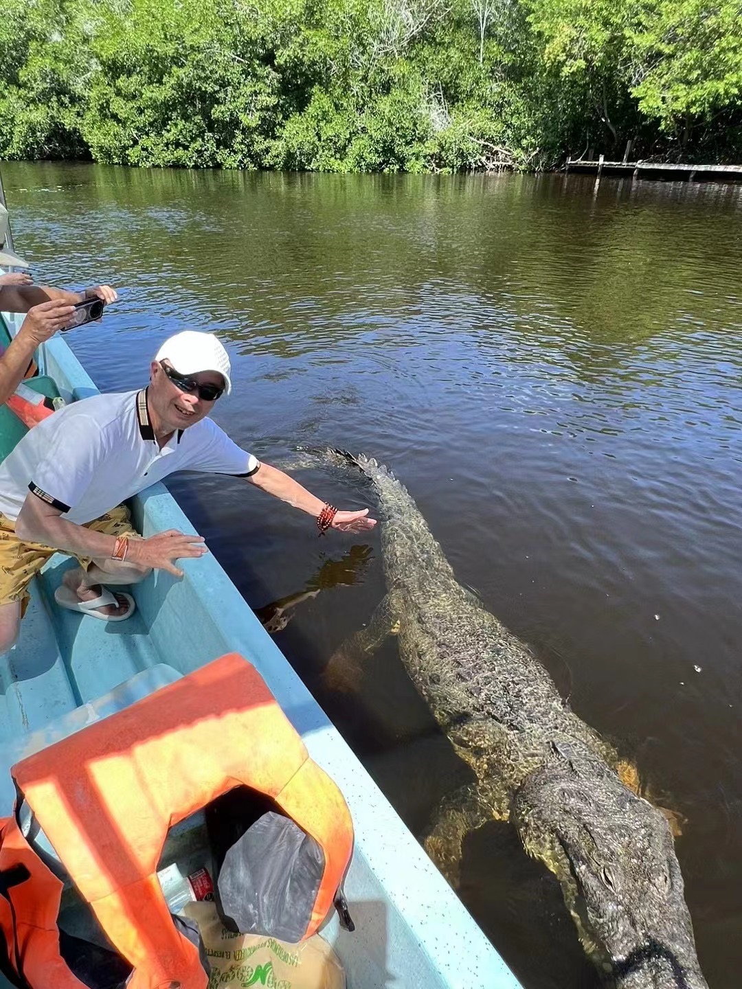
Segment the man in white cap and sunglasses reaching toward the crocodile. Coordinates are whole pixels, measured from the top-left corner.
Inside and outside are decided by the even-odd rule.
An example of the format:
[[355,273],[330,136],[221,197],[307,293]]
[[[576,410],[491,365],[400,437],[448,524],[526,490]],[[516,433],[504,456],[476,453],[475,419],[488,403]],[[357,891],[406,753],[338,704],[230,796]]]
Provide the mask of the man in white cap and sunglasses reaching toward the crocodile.
[[142,539],[122,504],[175,471],[244,478],[312,515],[321,532],[359,532],[368,509],[337,511],[283,471],[261,464],[210,419],[232,391],[230,358],[216,336],[186,330],[166,340],[140,392],[66,405],[31,429],[0,464],[0,654],[18,636],[28,584],[55,551],[77,557],[54,596],[107,621],[134,610],[134,584],[152,570],[180,577],[175,561],[207,552],[175,530]]

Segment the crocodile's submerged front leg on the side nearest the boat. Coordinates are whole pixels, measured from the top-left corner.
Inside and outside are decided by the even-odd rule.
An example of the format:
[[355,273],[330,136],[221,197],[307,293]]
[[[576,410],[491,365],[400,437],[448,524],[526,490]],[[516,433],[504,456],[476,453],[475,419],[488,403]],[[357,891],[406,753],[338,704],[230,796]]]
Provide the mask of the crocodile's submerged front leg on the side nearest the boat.
[[505,787],[496,794],[488,785],[485,793],[479,782],[467,783],[443,799],[423,845],[454,889],[459,885],[464,838],[488,821],[507,821],[509,815]]

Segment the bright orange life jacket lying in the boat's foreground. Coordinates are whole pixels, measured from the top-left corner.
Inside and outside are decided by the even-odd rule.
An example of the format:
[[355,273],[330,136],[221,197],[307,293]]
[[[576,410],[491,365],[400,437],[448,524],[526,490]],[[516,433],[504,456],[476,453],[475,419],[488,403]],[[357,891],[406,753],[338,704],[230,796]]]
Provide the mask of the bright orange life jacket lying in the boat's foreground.
[[[128,989],[207,985],[156,869],[168,829],[218,796],[242,784],[266,794],[321,846],[325,869],[305,937],[325,919],[352,852],[342,795],[235,653],[49,746],[12,775],[79,894],[134,966]],[[82,989],[59,953],[62,883],[11,817],[0,831],[0,876],[24,867],[29,877],[0,895],[10,965],[34,989]]]

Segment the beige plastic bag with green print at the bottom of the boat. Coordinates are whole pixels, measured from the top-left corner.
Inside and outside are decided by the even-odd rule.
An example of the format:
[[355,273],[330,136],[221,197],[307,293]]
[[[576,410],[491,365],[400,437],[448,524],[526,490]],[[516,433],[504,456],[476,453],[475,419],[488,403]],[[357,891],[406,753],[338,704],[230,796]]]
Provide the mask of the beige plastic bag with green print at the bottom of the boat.
[[345,989],[339,959],[320,935],[300,944],[254,934],[232,934],[214,903],[189,903],[183,914],[195,920],[211,965],[209,989]]

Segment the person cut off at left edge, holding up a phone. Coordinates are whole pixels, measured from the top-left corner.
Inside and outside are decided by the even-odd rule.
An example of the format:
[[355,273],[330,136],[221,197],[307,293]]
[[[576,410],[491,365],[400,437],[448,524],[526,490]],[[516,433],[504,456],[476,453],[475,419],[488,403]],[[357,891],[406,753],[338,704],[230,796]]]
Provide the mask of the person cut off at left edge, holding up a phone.
[[[28,261],[5,246],[9,229],[8,211],[0,203],[0,267],[28,269]],[[28,270],[0,273],[0,313],[28,314],[7,350],[0,355],[0,405],[8,401],[23,381],[37,347],[67,325],[74,304],[96,297],[104,304],[118,299],[110,285],[68,292],[50,285],[34,285]]]

